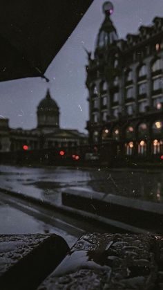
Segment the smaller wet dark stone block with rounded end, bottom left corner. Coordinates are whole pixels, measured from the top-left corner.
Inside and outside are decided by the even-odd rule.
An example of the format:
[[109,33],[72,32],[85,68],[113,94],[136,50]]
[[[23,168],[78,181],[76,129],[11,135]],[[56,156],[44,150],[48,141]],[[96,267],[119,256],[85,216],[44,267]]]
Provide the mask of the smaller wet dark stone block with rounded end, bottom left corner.
[[54,234],[0,235],[0,289],[36,289],[68,250]]

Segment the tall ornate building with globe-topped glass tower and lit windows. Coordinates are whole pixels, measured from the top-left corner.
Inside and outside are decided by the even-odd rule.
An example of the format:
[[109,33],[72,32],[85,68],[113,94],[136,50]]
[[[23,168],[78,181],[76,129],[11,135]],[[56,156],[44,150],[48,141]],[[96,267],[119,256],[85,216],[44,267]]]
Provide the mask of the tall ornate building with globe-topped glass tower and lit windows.
[[118,39],[113,6],[103,10],[86,66],[90,143],[115,140],[119,158],[163,158],[163,18]]

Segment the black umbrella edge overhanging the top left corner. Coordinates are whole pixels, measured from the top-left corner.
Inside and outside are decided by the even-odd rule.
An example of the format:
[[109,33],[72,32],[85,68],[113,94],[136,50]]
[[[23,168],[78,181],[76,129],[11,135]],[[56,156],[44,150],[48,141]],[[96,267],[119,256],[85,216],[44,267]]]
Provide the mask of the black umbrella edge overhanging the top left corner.
[[44,73],[93,0],[1,0],[0,81]]

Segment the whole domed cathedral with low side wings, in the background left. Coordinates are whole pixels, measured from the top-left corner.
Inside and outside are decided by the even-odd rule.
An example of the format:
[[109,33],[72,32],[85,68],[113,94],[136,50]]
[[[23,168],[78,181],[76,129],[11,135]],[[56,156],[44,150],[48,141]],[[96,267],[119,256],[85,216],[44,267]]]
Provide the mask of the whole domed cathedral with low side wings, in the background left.
[[87,144],[85,134],[75,129],[59,127],[59,107],[50,97],[49,91],[37,107],[37,128],[12,129],[8,119],[0,119],[0,152],[75,147],[84,144]]

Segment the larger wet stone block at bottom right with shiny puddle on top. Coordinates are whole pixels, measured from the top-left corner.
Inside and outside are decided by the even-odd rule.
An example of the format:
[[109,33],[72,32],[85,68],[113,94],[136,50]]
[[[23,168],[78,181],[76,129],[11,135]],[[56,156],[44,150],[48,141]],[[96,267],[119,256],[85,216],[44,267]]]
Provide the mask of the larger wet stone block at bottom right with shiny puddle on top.
[[163,239],[88,234],[38,290],[163,289]]

